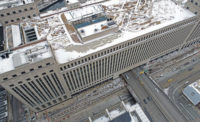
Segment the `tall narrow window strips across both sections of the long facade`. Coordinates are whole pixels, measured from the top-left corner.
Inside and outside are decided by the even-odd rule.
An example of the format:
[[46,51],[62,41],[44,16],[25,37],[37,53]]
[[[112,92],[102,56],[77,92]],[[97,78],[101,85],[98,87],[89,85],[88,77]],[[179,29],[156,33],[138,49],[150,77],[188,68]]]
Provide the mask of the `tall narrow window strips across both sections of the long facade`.
[[[183,43],[191,29],[192,26],[187,25],[154,40],[148,40],[137,46],[131,45],[102,59],[91,61],[81,67],[76,67],[76,69],[71,69],[63,73],[66,86],[75,94],[80,89],[84,89],[85,86],[93,86],[96,82],[109,78],[115,72],[145,61],[174,47],[178,48],[177,46]],[[49,76],[46,73],[42,73],[42,77],[34,76],[34,81],[26,79],[28,84],[22,84],[22,81],[19,82],[20,87],[13,88],[13,91],[33,107],[41,104],[44,105],[43,103],[59,97],[59,94],[65,95],[65,90],[61,85],[62,81],[58,79],[53,70],[49,72],[51,72]],[[31,91],[31,87],[34,91]],[[45,108],[46,106],[41,107]]]

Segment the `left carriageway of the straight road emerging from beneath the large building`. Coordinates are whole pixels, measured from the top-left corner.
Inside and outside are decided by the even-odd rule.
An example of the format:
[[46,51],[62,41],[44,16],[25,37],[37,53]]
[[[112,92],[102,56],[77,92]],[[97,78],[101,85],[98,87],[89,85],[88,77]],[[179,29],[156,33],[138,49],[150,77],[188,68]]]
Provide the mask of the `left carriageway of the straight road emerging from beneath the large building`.
[[[137,101],[141,104],[146,115],[151,121],[154,122],[168,122],[167,118],[156,106],[156,103],[152,100],[149,93],[145,90],[143,85],[135,78],[135,75],[130,71],[123,74],[124,79],[128,83],[127,86],[130,86],[138,99]],[[150,98],[148,100],[148,98]]]

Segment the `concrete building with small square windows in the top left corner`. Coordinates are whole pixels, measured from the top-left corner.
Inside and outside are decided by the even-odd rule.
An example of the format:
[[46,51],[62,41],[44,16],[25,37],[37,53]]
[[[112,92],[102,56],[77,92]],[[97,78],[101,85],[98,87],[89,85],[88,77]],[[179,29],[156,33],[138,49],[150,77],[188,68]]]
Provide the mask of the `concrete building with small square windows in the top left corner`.
[[3,25],[39,15],[34,0],[2,0],[0,1],[0,23]]

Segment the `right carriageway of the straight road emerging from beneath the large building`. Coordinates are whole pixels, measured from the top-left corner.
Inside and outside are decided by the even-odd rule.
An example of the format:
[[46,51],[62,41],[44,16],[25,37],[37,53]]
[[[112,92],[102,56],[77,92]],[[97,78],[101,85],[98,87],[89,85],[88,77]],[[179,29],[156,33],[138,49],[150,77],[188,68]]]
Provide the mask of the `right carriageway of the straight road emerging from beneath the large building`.
[[186,122],[187,119],[181,114],[179,109],[171,102],[167,95],[145,74],[140,75],[142,69],[136,68],[133,71],[139,79],[144,82],[144,87],[155,99],[159,108],[173,122]]

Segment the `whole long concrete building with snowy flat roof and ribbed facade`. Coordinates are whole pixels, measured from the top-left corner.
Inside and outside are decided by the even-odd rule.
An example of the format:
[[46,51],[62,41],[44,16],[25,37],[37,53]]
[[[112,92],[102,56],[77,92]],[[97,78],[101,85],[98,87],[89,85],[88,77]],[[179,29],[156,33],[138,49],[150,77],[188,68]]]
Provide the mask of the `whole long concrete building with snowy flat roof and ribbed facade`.
[[33,111],[48,112],[134,67],[199,43],[199,16],[171,0],[136,4],[109,0],[22,20],[20,29],[6,26],[6,35],[9,28],[20,30],[23,43],[5,43],[1,86]]

